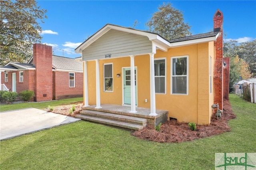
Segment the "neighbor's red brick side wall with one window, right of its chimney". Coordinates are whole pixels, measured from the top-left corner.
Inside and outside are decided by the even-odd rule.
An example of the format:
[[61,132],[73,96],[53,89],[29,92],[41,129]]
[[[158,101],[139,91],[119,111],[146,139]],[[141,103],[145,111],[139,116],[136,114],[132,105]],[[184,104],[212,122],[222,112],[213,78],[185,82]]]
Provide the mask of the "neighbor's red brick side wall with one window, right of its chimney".
[[[64,71],[54,71],[53,96],[56,100],[83,97],[83,73],[75,73],[75,87],[69,87],[69,73]],[[73,73],[73,72],[72,72]]]

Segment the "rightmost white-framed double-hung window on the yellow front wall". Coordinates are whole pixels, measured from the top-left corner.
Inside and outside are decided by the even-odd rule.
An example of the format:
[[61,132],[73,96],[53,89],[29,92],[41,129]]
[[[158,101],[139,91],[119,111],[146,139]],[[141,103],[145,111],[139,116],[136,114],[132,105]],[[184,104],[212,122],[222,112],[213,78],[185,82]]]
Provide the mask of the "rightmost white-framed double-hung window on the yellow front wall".
[[171,58],[172,94],[188,94],[188,56]]

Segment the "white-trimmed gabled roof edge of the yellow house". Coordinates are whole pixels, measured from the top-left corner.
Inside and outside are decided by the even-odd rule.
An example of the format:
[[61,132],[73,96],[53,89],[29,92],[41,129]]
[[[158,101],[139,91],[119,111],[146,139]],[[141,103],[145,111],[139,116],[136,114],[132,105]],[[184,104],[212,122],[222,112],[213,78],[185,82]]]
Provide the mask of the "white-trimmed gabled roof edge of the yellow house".
[[162,49],[163,51],[167,51],[168,48],[172,47],[179,47],[184,45],[192,45],[196,43],[204,43],[204,42],[212,42],[216,41],[218,37],[218,32],[208,32],[204,34],[197,34],[194,36],[187,36],[184,38],[177,38],[173,40],[166,40],[159,34],[148,32],[148,31],[142,31],[142,30],[136,30],[133,28],[128,27],[122,27],[117,26],[113,24],[106,24],[103,28],[101,28],[98,32],[96,32],[94,35],[90,36],[87,40],[85,40],[82,44],[80,44],[76,49],[76,53],[82,53],[82,51],[88,47],[90,44],[95,42],[98,38],[100,38],[102,35],[104,35],[106,32],[108,32],[110,29],[114,30],[120,30],[124,32],[129,32],[132,34],[138,34],[142,36],[147,36],[150,41],[152,41],[152,45],[156,47],[157,49]]

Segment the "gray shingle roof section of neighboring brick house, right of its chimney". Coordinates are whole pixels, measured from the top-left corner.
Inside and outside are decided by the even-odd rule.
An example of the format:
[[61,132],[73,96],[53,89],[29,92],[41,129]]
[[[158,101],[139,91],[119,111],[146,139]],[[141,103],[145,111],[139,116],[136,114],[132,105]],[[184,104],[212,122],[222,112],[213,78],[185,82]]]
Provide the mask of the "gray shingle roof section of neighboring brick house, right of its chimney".
[[83,63],[73,58],[52,55],[52,66],[56,69],[83,71]]

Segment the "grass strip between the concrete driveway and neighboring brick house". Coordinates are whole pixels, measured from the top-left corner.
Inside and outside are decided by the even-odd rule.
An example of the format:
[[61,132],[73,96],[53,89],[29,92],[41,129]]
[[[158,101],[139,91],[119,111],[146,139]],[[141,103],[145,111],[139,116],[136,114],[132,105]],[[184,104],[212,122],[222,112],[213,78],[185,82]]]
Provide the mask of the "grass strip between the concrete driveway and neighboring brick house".
[[36,108],[36,109],[45,109],[48,106],[58,106],[58,105],[67,105],[72,102],[83,101],[82,97],[71,98],[71,99],[62,99],[58,101],[47,101],[47,102],[30,102],[30,103],[15,103],[15,104],[4,104],[0,105],[0,111],[11,111],[16,109],[26,109],[26,108]]

